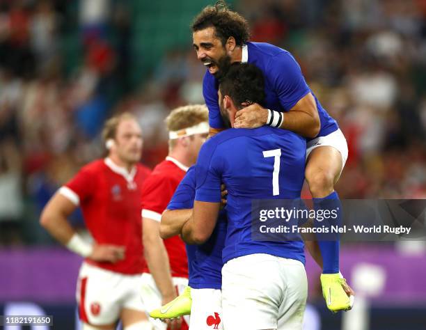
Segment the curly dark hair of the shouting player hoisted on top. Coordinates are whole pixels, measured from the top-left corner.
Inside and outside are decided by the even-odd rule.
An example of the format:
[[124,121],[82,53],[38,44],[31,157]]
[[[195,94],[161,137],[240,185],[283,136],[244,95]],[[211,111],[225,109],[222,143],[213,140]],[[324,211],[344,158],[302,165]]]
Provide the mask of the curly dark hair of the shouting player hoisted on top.
[[192,32],[213,26],[216,37],[226,44],[229,37],[234,37],[238,46],[242,46],[250,38],[248,23],[242,15],[231,11],[225,1],[217,1],[214,6],[205,7],[191,25]]

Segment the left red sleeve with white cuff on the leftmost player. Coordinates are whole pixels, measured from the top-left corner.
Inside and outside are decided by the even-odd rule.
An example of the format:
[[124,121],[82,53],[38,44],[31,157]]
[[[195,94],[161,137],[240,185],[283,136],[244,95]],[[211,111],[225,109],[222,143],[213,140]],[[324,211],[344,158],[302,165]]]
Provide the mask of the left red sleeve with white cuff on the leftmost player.
[[68,181],[59,192],[70,199],[75,205],[88,200],[95,191],[95,175],[87,168],[81,170]]

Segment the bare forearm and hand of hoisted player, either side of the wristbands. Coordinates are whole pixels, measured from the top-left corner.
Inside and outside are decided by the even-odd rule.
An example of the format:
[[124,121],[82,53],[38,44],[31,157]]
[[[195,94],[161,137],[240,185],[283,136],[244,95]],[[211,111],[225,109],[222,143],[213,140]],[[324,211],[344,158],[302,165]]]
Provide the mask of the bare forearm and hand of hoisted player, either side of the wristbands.
[[[248,107],[237,112],[235,128],[256,128],[266,125],[268,113],[268,109],[257,103],[248,105]],[[313,138],[319,133],[321,125],[315,98],[311,93],[302,97],[290,111],[283,113],[283,115],[282,129],[288,129],[308,138]]]

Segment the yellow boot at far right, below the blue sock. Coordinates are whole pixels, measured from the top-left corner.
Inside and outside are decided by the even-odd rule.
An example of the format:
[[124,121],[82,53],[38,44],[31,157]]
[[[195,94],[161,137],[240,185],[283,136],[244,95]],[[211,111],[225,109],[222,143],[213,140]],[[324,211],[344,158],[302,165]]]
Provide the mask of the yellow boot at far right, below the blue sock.
[[349,311],[354,305],[355,292],[347,285],[342,274],[321,274],[321,286],[322,296],[330,311]]

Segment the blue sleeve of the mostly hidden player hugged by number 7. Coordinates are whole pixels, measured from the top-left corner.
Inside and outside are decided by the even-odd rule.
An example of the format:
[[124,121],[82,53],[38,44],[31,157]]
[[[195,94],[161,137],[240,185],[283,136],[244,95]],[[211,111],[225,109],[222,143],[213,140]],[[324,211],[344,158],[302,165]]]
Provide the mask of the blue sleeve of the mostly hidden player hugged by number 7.
[[195,166],[187,171],[180,182],[173,197],[168,203],[167,210],[184,210],[194,207],[194,197],[196,191]]

